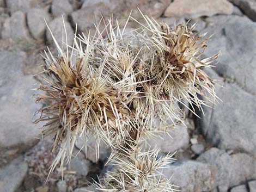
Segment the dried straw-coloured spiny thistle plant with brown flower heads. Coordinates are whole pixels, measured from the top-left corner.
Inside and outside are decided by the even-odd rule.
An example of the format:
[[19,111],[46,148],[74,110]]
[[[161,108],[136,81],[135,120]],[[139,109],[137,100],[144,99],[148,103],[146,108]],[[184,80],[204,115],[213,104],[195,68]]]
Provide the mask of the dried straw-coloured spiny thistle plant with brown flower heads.
[[142,16],[146,24],[138,22],[129,35],[124,32],[130,16],[122,30],[120,23],[109,20],[94,35],[75,35],[74,45],[65,42],[66,53],[53,36],[58,56],[45,52],[38,88],[44,93],[36,101],[46,106],[35,121],[46,121],[43,134],[51,135],[53,150],[59,150],[50,172],[70,162],[78,139],[86,138],[86,146],[92,135],[96,154],[100,140],[112,148],[109,163],[114,166],[95,184],[96,190],[174,191],[160,172],[173,162],[172,155],[159,159],[159,150],[147,152],[142,146],[147,138],[183,123],[180,103],[188,103],[195,113],[194,106],[207,105],[198,95],[215,102],[214,80],[203,68],[211,67],[218,54],[199,59],[208,39],[196,37],[194,26],[170,29]]

